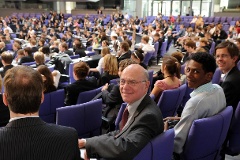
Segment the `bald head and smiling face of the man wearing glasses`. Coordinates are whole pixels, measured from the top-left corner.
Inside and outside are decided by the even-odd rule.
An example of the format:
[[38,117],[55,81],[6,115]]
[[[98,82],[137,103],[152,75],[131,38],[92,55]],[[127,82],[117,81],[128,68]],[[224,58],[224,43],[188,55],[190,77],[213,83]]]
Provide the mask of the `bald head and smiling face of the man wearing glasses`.
[[143,97],[148,90],[150,82],[144,74],[144,68],[138,64],[128,66],[121,73],[120,93],[124,102],[131,104]]

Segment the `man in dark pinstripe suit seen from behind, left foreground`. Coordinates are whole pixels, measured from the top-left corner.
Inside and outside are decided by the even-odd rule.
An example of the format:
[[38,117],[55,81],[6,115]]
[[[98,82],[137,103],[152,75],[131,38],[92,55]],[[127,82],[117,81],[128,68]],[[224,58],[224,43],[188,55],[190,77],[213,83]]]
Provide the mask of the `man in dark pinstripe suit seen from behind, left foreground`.
[[0,129],[0,159],[80,159],[76,130],[47,124],[38,116],[44,94],[37,71],[26,66],[10,69],[4,88],[3,102],[11,119]]

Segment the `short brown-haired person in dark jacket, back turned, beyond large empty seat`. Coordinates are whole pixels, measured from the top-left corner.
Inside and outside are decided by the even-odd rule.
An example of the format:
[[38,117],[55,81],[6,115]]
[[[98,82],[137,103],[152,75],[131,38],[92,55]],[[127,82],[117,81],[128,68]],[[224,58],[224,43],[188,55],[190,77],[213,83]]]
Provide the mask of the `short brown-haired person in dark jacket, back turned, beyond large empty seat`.
[[89,66],[85,62],[78,62],[73,66],[74,83],[65,87],[65,105],[75,105],[78,95],[81,92],[97,88],[97,81],[94,77],[86,79],[89,72]]

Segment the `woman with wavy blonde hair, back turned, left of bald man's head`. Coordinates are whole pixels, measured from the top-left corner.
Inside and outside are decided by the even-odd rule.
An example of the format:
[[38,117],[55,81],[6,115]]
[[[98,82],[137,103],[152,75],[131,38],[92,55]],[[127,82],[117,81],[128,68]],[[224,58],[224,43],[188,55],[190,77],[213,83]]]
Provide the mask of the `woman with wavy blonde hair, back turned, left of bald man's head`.
[[109,83],[110,80],[118,78],[118,62],[117,58],[111,54],[104,56],[103,74],[101,75],[100,85]]

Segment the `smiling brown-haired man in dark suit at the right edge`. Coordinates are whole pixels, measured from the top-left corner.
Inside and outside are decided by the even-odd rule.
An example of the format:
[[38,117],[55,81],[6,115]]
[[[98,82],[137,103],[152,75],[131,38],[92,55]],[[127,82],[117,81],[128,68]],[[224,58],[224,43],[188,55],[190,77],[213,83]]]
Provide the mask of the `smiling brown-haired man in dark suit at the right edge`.
[[240,101],[240,71],[236,66],[239,50],[232,42],[222,42],[216,47],[215,57],[219,69],[224,74],[221,87],[226,96],[227,106],[232,106],[235,111]]

